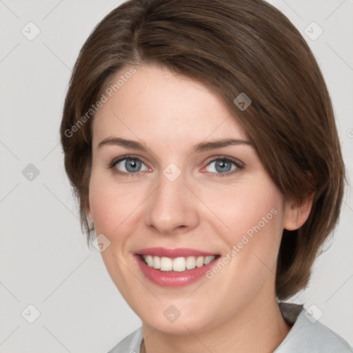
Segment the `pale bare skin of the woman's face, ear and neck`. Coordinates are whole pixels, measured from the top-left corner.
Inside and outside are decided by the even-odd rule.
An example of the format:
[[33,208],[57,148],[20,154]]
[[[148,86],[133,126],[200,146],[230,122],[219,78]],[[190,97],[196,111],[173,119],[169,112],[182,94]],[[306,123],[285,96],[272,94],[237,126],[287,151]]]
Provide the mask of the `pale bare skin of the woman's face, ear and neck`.
[[[98,148],[109,137],[144,141],[148,150]],[[276,303],[276,256],[283,228],[303,225],[312,197],[285,201],[251,144],[190,154],[197,143],[219,139],[249,141],[211,90],[157,66],[137,68],[94,117],[87,210],[96,234],[111,242],[103,261],[141,318],[147,353],[273,352],[290,331]],[[127,155],[142,162],[139,175],[125,168],[126,160],[108,168]],[[243,168],[216,170],[225,157]],[[163,174],[170,163],[181,170],[174,181]],[[276,215],[212,279],[161,287],[145,278],[132,257],[149,247],[224,256],[272,209]],[[163,315],[170,305],[181,313],[173,323]]]

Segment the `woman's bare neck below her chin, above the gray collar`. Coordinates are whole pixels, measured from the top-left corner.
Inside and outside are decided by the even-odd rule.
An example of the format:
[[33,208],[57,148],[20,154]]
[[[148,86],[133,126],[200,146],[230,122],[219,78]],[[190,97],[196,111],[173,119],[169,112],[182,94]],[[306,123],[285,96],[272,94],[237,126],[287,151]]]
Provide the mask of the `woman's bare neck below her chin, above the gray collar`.
[[141,353],[240,353],[274,352],[290,325],[283,319],[276,299],[250,303],[228,321],[209,330],[169,334],[143,323],[143,337],[148,337]]

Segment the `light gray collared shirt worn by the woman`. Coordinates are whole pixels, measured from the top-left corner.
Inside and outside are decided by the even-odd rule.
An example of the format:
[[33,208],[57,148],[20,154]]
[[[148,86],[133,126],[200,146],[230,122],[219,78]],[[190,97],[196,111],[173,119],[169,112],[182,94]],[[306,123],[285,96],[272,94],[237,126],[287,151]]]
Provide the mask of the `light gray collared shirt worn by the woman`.
[[[352,353],[353,348],[341,336],[317,321],[303,305],[279,303],[282,315],[292,326],[274,353]],[[142,327],[126,336],[108,353],[139,353]]]

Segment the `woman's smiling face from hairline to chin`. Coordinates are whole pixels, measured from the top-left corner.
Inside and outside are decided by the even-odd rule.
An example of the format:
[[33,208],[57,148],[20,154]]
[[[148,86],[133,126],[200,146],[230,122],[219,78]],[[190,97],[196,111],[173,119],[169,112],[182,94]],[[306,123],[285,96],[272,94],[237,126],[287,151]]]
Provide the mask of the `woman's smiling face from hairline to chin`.
[[[125,72],[93,121],[88,211],[112,281],[143,323],[163,332],[253,320],[275,298],[290,208],[210,90],[154,66]],[[206,144],[228,139],[241,142]],[[213,257],[202,252],[217,257],[203,265]],[[139,255],[147,253],[150,265]]]

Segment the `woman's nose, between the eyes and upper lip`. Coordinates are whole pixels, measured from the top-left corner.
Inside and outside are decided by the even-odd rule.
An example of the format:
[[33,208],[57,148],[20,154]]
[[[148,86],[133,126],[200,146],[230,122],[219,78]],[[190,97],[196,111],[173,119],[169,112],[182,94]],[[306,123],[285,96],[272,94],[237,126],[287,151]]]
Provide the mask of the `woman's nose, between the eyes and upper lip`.
[[185,185],[183,173],[174,181],[161,173],[148,199],[145,223],[161,234],[187,232],[199,224],[198,199]]

